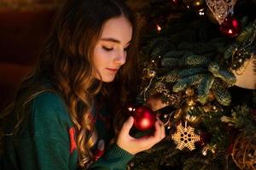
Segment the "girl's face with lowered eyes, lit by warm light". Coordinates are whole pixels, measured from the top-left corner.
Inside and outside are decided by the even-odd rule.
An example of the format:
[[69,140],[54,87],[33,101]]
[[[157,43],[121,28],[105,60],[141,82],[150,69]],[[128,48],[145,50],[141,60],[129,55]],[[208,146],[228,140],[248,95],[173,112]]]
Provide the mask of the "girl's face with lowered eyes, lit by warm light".
[[132,26],[124,16],[108,20],[102,36],[96,43],[93,60],[95,77],[102,82],[112,82],[121,65],[125,64],[127,48],[131,42]]

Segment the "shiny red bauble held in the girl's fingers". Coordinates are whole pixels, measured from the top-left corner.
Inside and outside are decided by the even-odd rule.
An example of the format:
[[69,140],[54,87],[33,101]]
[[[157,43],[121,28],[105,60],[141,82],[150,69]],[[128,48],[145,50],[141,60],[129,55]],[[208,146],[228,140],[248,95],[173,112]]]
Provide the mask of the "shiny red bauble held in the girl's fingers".
[[141,131],[149,130],[154,127],[156,121],[154,112],[146,106],[137,107],[133,113],[134,126]]

